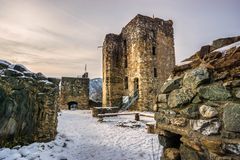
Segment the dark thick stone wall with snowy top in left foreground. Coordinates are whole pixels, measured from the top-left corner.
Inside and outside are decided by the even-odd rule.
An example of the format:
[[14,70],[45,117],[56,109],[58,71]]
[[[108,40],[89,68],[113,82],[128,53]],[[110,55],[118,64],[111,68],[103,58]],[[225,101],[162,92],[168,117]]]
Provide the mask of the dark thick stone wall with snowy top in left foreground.
[[55,138],[59,82],[0,61],[0,147]]

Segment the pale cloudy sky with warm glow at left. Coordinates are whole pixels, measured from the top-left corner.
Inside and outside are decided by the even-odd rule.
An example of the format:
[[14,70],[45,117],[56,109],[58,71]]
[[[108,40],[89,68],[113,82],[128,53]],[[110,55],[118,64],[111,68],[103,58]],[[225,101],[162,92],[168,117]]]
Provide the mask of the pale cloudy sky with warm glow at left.
[[0,59],[47,76],[101,77],[101,46],[138,13],[174,22],[176,61],[240,35],[240,0],[0,0]]

